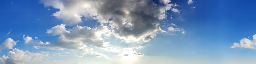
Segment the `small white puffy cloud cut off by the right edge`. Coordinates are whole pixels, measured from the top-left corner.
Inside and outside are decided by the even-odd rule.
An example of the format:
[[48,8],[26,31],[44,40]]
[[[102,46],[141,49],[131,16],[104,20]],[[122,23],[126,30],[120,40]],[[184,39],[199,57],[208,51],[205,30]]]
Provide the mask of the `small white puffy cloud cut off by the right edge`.
[[243,38],[240,40],[240,43],[234,43],[234,46],[231,46],[230,48],[250,48],[250,49],[256,49],[256,34],[253,35],[253,40],[250,40],[249,38]]

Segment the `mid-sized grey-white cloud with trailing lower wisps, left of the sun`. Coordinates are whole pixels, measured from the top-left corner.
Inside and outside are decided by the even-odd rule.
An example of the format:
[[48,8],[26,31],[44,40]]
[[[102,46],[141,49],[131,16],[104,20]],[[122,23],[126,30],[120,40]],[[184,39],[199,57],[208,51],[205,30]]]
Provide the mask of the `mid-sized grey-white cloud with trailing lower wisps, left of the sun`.
[[[90,28],[86,26],[76,26],[72,29],[66,29],[65,24],[60,24],[50,29],[47,29],[46,33],[51,34],[52,36],[60,36],[58,41],[54,44],[49,42],[37,42],[36,40],[31,39],[30,44],[34,45],[34,48],[46,48],[51,50],[63,50],[63,49],[73,49],[80,50],[84,52],[83,54],[90,54],[97,57],[108,58],[108,56],[93,52],[93,49],[87,45],[93,47],[98,47],[102,49],[109,49],[111,47],[108,42],[104,42],[101,36],[109,36],[107,26],[98,26],[97,28]],[[29,37],[29,36],[27,36]],[[25,40],[26,38],[24,38]],[[26,43],[26,42],[25,42]]]

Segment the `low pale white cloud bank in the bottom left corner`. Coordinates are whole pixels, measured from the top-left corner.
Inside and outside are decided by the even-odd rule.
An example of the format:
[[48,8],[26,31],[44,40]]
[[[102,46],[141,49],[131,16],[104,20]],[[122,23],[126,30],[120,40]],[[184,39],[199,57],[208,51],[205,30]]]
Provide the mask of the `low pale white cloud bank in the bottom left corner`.
[[35,64],[44,58],[44,54],[13,49],[8,52],[8,56],[0,58],[3,64]]

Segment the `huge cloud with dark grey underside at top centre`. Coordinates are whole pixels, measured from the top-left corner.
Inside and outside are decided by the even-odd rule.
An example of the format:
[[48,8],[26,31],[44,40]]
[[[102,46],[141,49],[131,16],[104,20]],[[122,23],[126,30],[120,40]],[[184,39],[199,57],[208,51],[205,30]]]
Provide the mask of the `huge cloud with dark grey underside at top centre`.
[[[83,17],[92,18],[101,25],[108,26],[114,36],[125,42],[139,40],[148,42],[158,31],[165,32],[159,27],[159,21],[166,18],[166,11],[177,6],[171,4],[170,0],[160,0],[159,3],[150,0],[40,0],[40,2],[44,6],[60,9],[53,16],[62,19],[67,25],[81,23]],[[56,35],[56,32],[52,35]]]

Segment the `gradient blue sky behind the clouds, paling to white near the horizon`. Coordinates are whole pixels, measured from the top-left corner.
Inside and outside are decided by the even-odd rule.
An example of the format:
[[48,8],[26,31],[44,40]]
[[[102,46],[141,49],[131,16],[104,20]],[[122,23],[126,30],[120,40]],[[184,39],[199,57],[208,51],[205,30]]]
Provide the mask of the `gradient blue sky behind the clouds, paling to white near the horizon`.
[[[44,57],[43,61],[51,60],[53,64],[62,62],[66,64],[76,62],[81,64],[132,64],[133,62],[133,64],[255,64],[255,49],[230,48],[235,42],[239,43],[242,38],[249,37],[252,40],[252,36],[256,34],[255,2],[254,0],[193,0],[192,4],[188,4],[187,0],[172,0],[171,3],[179,5],[176,8],[180,11],[179,13],[167,11],[166,19],[161,20],[168,20],[167,24],[160,24],[168,34],[157,33],[149,42],[125,43],[115,36],[105,40],[112,45],[123,47],[143,46],[137,51],[145,55],[131,62],[122,62],[115,60],[118,59],[116,56],[118,53],[114,52],[98,51],[108,55],[112,59],[109,60],[90,54],[80,55],[78,50],[36,49],[33,45],[24,44],[23,35],[33,39],[36,36],[39,38],[38,41],[42,42],[57,42],[59,36],[47,34],[46,30],[65,24],[62,19],[52,15],[60,10],[52,6],[44,6],[39,0],[1,0],[0,43],[7,38],[19,40],[13,49],[33,53],[48,52],[49,56]],[[196,8],[193,8],[194,6]],[[170,17],[173,18],[170,19]],[[76,25],[91,28],[100,25],[92,19],[82,21],[83,23]],[[168,31],[171,23],[176,24],[176,28],[184,29],[185,33]],[[73,28],[76,25],[66,26],[66,28]],[[10,34],[7,34],[8,32]],[[94,51],[98,49],[100,48],[95,48]],[[9,51],[13,50],[4,48],[0,56],[8,56]],[[63,56],[53,56],[54,53],[60,53]],[[71,57],[74,55],[83,56],[83,58]]]

